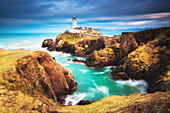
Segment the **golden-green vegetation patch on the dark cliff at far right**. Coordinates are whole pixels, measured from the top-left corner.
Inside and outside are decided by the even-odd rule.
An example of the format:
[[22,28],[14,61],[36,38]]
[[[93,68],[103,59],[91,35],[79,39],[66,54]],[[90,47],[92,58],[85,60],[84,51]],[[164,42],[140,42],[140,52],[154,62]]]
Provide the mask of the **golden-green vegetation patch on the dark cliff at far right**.
[[159,51],[165,51],[166,46],[156,46],[161,42],[163,36],[155,38],[146,45],[139,46],[135,51],[128,55],[131,62],[127,65],[133,64],[134,71],[142,72],[143,70],[148,70],[152,64],[157,64],[159,62]]

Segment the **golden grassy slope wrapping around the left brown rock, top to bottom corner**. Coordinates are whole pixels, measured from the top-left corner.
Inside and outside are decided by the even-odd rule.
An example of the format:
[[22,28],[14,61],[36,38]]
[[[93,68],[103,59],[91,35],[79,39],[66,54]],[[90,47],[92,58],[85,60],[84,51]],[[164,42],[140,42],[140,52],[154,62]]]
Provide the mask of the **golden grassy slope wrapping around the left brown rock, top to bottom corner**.
[[[23,85],[15,68],[16,62],[27,55],[36,54],[35,51],[23,49],[0,49],[0,112],[2,113],[41,112],[44,109],[43,104],[46,104],[45,109],[48,109],[47,106],[57,106],[54,105],[53,100],[44,95],[31,96],[24,90],[21,92],[14,89],[16,82]],[[10,80],[14,82],[10,82]],[[35,109],[32,110],[33,108]]]

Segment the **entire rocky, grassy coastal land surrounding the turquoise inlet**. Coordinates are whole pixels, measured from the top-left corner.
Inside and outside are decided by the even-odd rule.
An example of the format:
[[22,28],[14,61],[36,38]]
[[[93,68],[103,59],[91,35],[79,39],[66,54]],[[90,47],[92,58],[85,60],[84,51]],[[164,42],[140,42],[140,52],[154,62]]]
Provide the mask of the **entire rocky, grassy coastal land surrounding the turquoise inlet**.
[[[85,37],[65,32],[42,47],[86,56],[89,67],[116,66],[113,79],[144,79],[149,94],[110,96],[79,105],[62,106],[67,94],[76,91],[72,72],[48,53],[0,49],[0,112],[161,112],[168,113],[170,28],[157,28],[122,36]],[[69,59],[71,60],[71,59]],[[87,105],[88,104],[88,105]],[[82,106],[83,105],[83,106]]]

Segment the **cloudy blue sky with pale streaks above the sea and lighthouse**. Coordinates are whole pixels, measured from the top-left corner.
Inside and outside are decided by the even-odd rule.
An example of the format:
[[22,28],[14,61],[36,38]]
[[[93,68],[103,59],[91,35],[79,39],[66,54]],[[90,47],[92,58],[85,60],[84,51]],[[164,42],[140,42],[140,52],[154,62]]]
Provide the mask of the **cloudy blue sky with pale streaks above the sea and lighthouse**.
[[104,35],[170,27],[170,0],[0,0],[0,33],[61,33],[74,15]]

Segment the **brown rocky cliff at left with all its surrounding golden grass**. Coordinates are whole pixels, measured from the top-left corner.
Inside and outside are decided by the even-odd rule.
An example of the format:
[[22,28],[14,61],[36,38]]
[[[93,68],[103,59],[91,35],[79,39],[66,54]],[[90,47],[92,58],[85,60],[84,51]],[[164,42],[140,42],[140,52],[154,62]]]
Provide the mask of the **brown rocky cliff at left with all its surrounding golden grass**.
[[6,104],[2,112],[48,111],[76,91],[72,72],[46,52],[0,50],[0,61],[0,106]]

